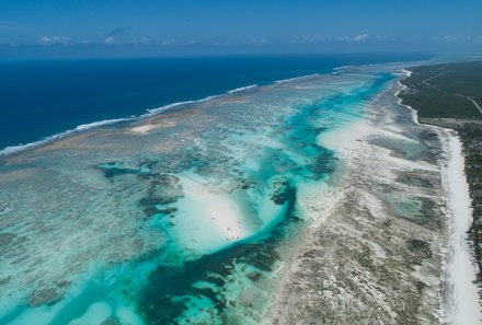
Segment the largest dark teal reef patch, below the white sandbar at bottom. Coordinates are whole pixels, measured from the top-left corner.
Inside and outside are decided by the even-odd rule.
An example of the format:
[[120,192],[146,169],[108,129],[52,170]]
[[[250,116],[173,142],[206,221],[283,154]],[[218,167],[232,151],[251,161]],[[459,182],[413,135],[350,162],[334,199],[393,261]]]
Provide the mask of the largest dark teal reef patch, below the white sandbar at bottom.
[[188,309],[186,297],[207,298],[218,312],[222,312],[227,306],[222,294],[217,294],[209,287],[196,288],[194,285],[203,281],[220,289],[238,263],[259,269],[246,274],[251,281],[256,281],[262,277],[261,271],[272,270],[279,259],[275,247],[273,240],[236,244],[197,260],[186,262],[181,267],[159,266],[151,272],[149,285],[140,293],[138,309],[149,324],[175,324],[174,320]]

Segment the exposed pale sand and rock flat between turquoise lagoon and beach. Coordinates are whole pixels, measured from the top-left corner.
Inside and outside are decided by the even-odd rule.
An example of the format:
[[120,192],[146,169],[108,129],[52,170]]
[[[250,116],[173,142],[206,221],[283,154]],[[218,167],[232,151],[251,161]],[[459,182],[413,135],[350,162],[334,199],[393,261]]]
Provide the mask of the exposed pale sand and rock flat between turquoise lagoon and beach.
[[266,324],[440,323],[443,148],[397,103],[399,88],[380,94],[353,132],[319,139],[343,171],[287,263]]

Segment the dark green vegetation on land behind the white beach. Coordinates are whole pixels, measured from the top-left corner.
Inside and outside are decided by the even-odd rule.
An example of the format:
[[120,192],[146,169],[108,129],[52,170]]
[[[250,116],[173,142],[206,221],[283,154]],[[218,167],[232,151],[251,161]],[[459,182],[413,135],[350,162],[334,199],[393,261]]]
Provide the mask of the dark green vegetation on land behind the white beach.
[[473,209],[469,235],[479,264],[479,280],[482,281],[482,112],[471,101],[482,106],[482,61],[409,70],[413,73],[402,81],[408,86],[400,94],[403,104],[416,109],[423,123],[456,129],[463,142]]

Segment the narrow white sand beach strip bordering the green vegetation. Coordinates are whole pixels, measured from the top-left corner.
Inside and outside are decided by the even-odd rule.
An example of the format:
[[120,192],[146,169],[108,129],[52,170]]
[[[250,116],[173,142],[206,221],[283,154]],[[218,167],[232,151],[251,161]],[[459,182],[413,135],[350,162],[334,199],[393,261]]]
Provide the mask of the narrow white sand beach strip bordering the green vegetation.
[[[404,78],[410,78],[412,71],[402,70]],[[477,285],[478,266],[473,253],[473,244],[468,235],[472,224],[472,209],[468,179],[464,172],[464,154],[461,139],[457,130],[440,125],[421,123],[418,112],[410,105],[403,104],[400,92],[406,90],[402,86],[394,95],[399,104],[406,107],[412,115],[415,124],[433,128],[443,140],[445,161],[440,166],[443,171],[443,185],[447,199],[449,243],[444,256],[444,274],[441,283],[441,306],[440,314],[444,323],[448,324],[472,324],[473,320],[479,320],[482,324],[482,309],[480,305],[480,287]],[[446,292],[444,292],[446,291]],[[470,295],[470,299],[467,299]],[[456,303],[456,305],[454,305]],[[470,315],[470,316],[469,316]]]

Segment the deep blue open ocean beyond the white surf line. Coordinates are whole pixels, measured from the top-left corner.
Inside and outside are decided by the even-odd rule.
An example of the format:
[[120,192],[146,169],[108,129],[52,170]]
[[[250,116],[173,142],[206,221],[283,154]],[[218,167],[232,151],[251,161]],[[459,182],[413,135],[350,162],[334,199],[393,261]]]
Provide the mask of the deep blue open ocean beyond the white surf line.
[[336,67],[427,55],[318,55],[0,61],[0,150],[79,125],[145,114],[250,85]]

